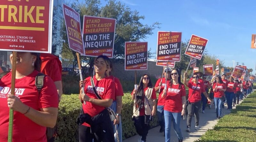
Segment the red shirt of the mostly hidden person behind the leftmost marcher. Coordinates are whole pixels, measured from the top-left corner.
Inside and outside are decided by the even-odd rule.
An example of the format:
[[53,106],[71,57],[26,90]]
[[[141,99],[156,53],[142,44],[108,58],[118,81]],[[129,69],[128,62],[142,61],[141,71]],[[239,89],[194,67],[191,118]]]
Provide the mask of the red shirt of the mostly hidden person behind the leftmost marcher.
[[61,81],[62,67],[59,58],[49,53],[41,53],[40,58],[41,72],[52,78],[54,82]]

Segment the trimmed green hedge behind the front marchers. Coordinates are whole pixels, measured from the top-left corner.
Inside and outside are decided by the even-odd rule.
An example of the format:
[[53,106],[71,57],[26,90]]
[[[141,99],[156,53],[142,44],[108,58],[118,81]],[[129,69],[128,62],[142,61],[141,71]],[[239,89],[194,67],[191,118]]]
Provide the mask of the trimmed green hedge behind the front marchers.
[[[157,94],[158,98],[158,94]],[[133,101],[130,93],[125,93],[123,96],[122,109],[122,130],[123,139],[132,137],[137,134],[132,121]],[[157,101],[156,101],[157,102]],[[78,126],[76,118],[80,113],[81,102],[78,100],[78,94],[62,95],[59,104],[59,114],[57,119],[57,142],[76,142],[78,135]],[[150,127],[158,125],[157,117],[153,117]]]

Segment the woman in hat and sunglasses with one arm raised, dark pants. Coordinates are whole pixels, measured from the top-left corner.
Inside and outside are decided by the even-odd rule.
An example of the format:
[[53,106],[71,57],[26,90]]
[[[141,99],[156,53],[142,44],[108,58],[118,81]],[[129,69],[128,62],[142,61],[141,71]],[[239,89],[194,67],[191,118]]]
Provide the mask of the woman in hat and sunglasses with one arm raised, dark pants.
[[188,120],[187,120],[187,132],[190,131],[192,117],[195,114],[195,130],[199,129],[199,110],[201,107],[201,93],[203,92],[205,98],[211,102],[208,94],[205,92],[204,84],[198,82],[198,75],[193,75],[193,82],[187,82],[187,72],[184,72],[184,84],[188,86]]

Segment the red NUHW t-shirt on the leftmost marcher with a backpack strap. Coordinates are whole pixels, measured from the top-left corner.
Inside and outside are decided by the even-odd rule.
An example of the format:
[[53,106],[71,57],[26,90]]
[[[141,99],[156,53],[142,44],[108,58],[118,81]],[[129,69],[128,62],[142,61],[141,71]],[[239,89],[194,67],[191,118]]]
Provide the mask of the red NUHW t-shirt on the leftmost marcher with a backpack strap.
[[[20,98],[24,104],[30,108],[40,111],[40,108],[58,108],[59,97],[57,89],[48,76],[44,77],[44,86],[40,92],[35,85],[35,77],[38,71],[33,71],[26,77],[15,79],[15,96]],[[0,141],[7,142],[9,125],[9,108],[7,105],[7,94],[11,92],[12,72],[7,73],[0,81]],[[14,111],[13,120],[13,142],[46,142],[46,127],[40,126],[24,116],[20,112]]]

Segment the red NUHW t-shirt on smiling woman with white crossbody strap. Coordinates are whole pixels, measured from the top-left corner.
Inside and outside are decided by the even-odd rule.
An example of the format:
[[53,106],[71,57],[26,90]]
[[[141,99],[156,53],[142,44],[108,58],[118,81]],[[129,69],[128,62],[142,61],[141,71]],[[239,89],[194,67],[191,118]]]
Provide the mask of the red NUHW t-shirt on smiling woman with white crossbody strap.
[[[95,89],[97,93],[100,95],[100,97],[105,100],[105,99],[113,99],[115,98],[115,82],[106,77],[98,81],[95,76],[93,77]],[[98,99],[96,94],[94,93],[92,89],[92,84],[91,84],[91,77],[88,77],[84,80],[84,93],[88,95],[90,98]],[[105,109],[105,107],[98,106],[95,104],[92,104],[91,102],[86,102],[86,105],[83,103],[83,109],[84,113],[89,114],[90,116],[96,116],[99,114],[101,111]],[[90,127],[89,124],[83,123],[84,126]]]

